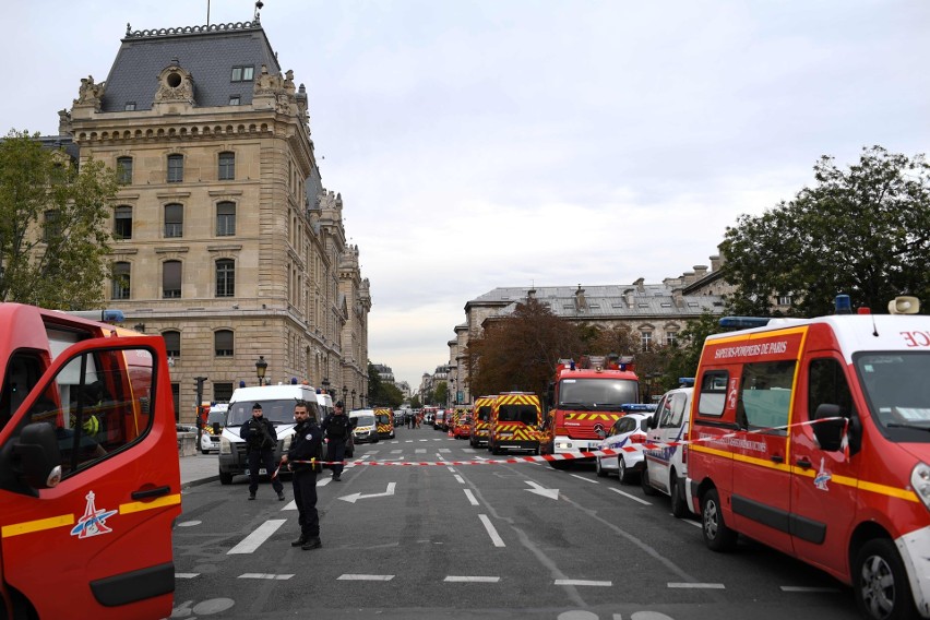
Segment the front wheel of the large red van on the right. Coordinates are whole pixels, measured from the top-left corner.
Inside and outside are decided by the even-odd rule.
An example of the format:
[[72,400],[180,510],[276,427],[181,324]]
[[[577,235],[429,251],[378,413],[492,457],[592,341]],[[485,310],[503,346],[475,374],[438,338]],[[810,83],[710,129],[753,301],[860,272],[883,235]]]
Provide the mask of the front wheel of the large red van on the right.
[[907,571],[894,542],[869,540],[853,562],[853,592],[862,616],[874,620],[917,618]]

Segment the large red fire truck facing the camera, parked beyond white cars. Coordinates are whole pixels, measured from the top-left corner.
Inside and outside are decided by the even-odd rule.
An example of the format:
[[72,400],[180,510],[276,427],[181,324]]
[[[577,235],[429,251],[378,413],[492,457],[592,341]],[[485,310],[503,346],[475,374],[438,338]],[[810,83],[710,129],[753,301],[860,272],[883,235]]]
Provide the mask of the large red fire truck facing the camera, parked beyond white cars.
[[[544,454],[597,450],[598,431],[623,417],[623,405],[640,402],[632,362],[632,357],[613,361],[603,356],[582,356],[579,363],[559,360],[547,394]],[[549,462],[557,469],[568,463],[571,461]]]

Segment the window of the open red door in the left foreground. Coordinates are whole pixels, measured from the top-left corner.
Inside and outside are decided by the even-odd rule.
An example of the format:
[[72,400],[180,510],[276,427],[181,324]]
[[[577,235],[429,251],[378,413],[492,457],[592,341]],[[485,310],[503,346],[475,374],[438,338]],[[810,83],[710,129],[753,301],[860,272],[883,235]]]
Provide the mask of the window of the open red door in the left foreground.
[[23,424],[55,427],[61,470],[69,476],[145,434],[153,374],[153,356],[144,349],[79,355],[44,389]]

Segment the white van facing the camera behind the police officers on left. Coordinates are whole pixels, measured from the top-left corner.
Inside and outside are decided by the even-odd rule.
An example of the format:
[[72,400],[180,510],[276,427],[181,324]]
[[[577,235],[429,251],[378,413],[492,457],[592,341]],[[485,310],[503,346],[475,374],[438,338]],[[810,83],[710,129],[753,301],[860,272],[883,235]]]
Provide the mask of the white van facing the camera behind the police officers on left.
[[[274,451],[275,462],[290,448],[294,438],[294,404],[306,401],[310,414],[320,419],[317,405],[317,391],[310,385],[263,385],[260,388],[239,388],[229,398],[226,412],[226,426],[219,438],[219,482],[233,484],[233,476],[249,473],[246,461],[246,442],[239,437],[242,424],[252,417],[252,406],[262,405],[262,416],[271,420],[277,433]],[[262,472],[267,474],[267,472]]]

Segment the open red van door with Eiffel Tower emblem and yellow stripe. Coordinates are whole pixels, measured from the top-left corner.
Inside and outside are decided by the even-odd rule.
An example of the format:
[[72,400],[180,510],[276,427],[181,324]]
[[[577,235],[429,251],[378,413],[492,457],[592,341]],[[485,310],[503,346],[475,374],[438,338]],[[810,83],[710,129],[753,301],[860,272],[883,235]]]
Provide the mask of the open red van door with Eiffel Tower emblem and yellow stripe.
[[[2,579],[41,618],[171,613],[181,497],[165,360],[160,337],[75,344],[0,431]],[[51,488],[13,473],[35,422],[56,428],[63,477]]]

